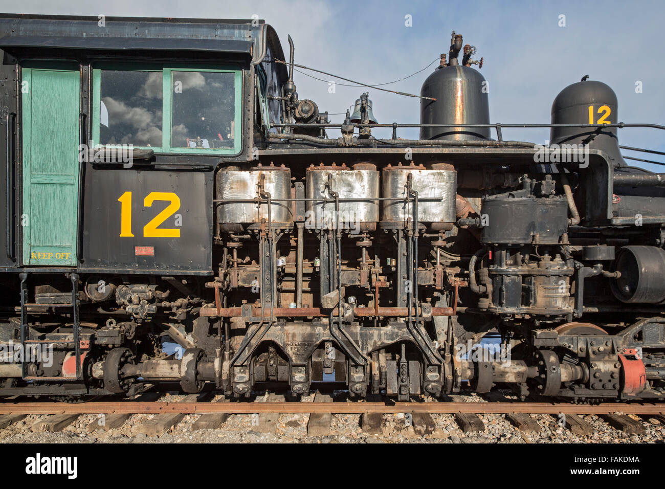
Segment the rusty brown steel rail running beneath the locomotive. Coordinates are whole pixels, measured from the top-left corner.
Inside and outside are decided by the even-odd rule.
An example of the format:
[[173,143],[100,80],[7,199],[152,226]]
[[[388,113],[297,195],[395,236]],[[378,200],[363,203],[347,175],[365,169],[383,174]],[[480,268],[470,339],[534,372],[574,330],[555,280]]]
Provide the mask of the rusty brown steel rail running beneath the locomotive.
[[568,403],[143,403],[136,401],[65,403],[0,403],[0,414],[253,414],[253,413],[474,413],[474,414],[665,414],[665,404],[601,403],[573,405]]

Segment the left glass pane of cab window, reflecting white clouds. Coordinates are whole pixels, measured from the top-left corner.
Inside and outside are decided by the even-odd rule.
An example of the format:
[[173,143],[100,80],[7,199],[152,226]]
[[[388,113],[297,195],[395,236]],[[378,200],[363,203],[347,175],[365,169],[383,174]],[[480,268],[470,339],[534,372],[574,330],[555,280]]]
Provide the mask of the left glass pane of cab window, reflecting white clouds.
[[162,72],[100,71],[100,144],[162,146]]

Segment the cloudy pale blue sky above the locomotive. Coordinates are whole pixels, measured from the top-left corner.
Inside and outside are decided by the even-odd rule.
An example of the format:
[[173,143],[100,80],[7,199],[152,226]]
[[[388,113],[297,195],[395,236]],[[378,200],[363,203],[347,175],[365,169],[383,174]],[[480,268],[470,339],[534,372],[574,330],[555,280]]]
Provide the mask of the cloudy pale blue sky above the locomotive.
[[[296,63],[370,84],[400,79],[426,67],[448,51],[455,30],[464,35],[464,43],[477,47],[476,57],[484,58],[481,73],[489,81],[491,122],[549,122],[557,93],[590,75],[616,92],[620,122],[665,124],[662,0],[1,0],[0,10],[139,17],[251,18],[255,14],[275,27],[285,51],[287,34],[291,34]],[[411,15],[412,27],[406,27],[406,15]],[[560,15],[566,16],[566,27],[559,27]],[[386,88],[419,93],[435,66]],[[331,94],[326,82],[299,73],[294,78],[300,98],[312,98],[320,110],[329,112],[344,112],[364,91],[337,85]],[[635,92],[636,81],[642,82],[640,94]],[[371,89],[370,98],[379,122],[419,122],[417,98]],[[340,122],[341,117],[331,119]],[[399,135],[417,136],[417,130]],[[543,143],[549,131],[505,130],[504,137]],[[665,150],[665,132],[660,130],[626,128],[619,130],[619,140],[626,146]]]

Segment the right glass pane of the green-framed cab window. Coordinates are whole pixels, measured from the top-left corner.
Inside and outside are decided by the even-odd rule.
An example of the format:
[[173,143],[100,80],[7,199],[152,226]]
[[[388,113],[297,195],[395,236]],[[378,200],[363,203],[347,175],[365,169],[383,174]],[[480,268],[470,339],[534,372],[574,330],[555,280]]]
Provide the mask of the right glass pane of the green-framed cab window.
[[172,72],[172,148],[233,148],[235,75]]

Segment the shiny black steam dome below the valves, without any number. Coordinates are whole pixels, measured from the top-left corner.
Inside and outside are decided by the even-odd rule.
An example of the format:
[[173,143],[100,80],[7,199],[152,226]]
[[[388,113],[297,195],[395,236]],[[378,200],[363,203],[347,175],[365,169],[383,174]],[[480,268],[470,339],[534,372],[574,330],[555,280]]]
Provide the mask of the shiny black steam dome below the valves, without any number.
[[[421,124],[489,124],[487,82],[477,70],[466,66],[439,67],[420,90]],[[423,127],[421,139],[485,140],[489,128]]]

